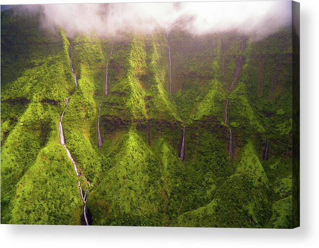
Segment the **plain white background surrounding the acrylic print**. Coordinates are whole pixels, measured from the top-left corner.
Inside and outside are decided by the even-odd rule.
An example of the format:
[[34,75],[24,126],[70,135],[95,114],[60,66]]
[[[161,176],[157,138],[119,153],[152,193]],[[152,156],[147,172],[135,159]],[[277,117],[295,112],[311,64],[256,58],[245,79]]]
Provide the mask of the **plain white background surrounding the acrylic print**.
[[[143,0],[142,0],[143,1]],[[68,3],[88,2],[68,0]],[[95,1],[105,2],[105,1]],[[116,2],[116,0],[115,0]],[[0,0],[0,4],[62,3]],[[0,225],[1,247],[319,247],[319,8],[300,0],[301,227],[293,230],[176,227]],[[72,18],[72,17],[70,17]]]

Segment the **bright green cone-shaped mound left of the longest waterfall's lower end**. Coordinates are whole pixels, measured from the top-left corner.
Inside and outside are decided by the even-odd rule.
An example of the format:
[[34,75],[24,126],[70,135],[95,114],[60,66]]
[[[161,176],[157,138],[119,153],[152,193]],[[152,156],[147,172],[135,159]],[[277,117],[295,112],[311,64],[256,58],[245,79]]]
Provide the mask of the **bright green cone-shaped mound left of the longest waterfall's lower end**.
[[9,223],[77,225],[82,204],[73,165],[52,141],[17,184]]

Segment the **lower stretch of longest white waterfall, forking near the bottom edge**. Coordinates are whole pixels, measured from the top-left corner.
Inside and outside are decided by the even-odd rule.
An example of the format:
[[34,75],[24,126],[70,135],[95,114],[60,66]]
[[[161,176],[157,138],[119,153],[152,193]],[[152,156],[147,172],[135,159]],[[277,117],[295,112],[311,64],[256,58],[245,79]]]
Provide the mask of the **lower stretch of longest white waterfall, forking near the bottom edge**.
[[86,183],[88,184],[88,186],[90,186],[90,181],[88,181],[84,176],[80,175],[78,173],[78,170],[77,170],[77,167],[76,167],[76,162],[74,161],[69,149],[67,148],[66,144],[65,144],[65,141],[64,141],[64,134],[63,134],[63,127],[62,127],[62,119],[63,119],[63,115],[64,115],[64,112],[65,112],[65,109],[67,108],[68,104],[69,104],[69,98],[67,98],[65,100],[65,107],[64,107],[64,110],[60,116],[60,121],[59,121],[59,124],[58,124],[58,127],[59,127],[59,136],[60,136],[60,144],[63,145],[63,147],[66,149],[67,151],[67,154],[68,154],[68,157],[70,158],[73,166],[74,166],[74,171],[76,173],[76,176],[77,176],[77,184],[78,184],[78,188],[79,188],[79,191],[80,191],[80,195],[81,195],[81,199],[84,203],[84,206],[83,206],[83,217],[84,217],[84,220],[85,220],[85,224],[86,225],[89,225],[88,223],[88,219],[87,219],[87,216],[86,216],[86,200],[87,200],[87,195],[86,195],[86,192],[88,190],[88,187],[87,189],[85,190],[85,194],[83,195],[83,190],[82,190],[82,187],[81,187],[81,184],[80,184],[80,178],[82,177]]

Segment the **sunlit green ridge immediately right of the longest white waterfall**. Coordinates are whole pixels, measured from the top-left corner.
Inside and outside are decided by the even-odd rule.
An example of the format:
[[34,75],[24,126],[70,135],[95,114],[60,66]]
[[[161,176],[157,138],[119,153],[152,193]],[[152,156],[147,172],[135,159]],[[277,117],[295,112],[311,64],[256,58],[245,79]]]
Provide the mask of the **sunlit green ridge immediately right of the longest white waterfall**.
[[[78,36],[74,40],[73,64],[79,73],[78,86],[70,97],[63,117],[65,142],[82,168],[82,174],[90,181],[96,180],[100,171],[100,159],[91,144],[90,129],[96,127],[97,103],[94,100],[95,83],[102,78],[98,63],[101,63],[101,45],[98,40]],[[98,55],[97,55],[98,54]],[[95,137],[94,137],[95,138]]]

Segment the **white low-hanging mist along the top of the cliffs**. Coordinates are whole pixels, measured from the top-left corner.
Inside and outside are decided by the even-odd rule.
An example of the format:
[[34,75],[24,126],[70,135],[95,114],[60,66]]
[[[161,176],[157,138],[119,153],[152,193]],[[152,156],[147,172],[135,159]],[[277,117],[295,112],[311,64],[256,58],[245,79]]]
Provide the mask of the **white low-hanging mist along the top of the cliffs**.
[[235,30],[258,39],[291,24],[290,6],[290,1],[43,4],[20,5],[16,11],[41,12],[43,27],[62,26],[69,36],[179,27],[195,35]]

